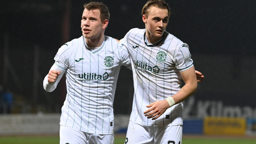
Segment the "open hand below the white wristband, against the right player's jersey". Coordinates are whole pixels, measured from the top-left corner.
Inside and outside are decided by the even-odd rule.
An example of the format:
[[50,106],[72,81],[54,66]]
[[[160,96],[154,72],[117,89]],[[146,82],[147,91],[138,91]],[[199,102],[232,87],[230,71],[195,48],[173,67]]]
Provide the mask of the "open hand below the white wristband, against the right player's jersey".
[[148,119],[152,118],[152,120],[155,120],[160,117],[170,107],[170,105],[167,100],[163,100],[153,102],[146,107],[149,109],[144,112],[145,116],[147,116]]

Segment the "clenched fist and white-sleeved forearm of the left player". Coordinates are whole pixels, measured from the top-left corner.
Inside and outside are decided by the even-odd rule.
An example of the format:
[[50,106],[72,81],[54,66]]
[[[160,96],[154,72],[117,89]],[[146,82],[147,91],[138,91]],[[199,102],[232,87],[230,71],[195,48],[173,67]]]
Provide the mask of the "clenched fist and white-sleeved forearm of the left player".
[[61,77],[65,73],[64,70],[53,64],[49,73],[45,76],[43,81],[44,89],[47,92],[52,92],[56,89]]

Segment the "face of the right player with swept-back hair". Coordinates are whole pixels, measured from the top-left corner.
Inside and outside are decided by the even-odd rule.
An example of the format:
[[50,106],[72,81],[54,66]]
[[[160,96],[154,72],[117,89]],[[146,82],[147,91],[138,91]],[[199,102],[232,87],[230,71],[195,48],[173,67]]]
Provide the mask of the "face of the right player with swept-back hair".
[[149,38],[161,38],[168,24],[168,10],[151,6],[148,16],[142,16]]

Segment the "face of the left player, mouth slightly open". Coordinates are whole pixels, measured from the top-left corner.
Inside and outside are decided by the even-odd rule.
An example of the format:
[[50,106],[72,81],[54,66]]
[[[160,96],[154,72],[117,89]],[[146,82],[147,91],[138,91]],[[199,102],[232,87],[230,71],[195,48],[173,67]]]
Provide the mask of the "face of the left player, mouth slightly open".
[[106,28],[106,22],[101,22],[100,19],[100,11],[96,10],[87,10],[84,9],[82,20],[81,20],[81,28],[82,33],[85,38],[88,39],[97,39],[104,34],[104,29]]

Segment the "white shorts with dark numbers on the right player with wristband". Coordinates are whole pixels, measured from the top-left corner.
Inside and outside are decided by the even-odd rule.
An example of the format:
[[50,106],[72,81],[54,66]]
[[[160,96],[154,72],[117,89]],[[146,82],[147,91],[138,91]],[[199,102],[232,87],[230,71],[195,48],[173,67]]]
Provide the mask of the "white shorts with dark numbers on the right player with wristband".
[[129,121],[125,144],[181,144],[182,125],[143,126]]

